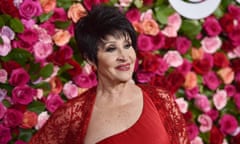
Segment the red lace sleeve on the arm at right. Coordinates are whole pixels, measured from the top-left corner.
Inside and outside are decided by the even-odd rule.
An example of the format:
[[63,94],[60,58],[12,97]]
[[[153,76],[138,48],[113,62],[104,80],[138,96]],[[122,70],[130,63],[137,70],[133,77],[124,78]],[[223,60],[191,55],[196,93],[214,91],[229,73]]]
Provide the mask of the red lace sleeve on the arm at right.
[[[162,106],[165,111],[160,111],[163,116],[164,125],[171,137],[172,144],[189,144],[185,120],[174,100],[167,91],[157,89],[157,94],[163,100]],[[178,142],[177,142],[178,141]]]

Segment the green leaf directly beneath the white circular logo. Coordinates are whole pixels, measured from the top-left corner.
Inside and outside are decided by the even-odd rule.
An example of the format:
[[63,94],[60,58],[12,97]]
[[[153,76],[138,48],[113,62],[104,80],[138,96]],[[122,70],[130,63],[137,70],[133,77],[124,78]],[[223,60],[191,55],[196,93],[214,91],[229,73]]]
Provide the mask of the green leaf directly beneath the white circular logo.
[[182,22],[180,33],[186,35],[189,39],[195,39],[196,36],[201,32],[201,23],[197,20],[185,19]]

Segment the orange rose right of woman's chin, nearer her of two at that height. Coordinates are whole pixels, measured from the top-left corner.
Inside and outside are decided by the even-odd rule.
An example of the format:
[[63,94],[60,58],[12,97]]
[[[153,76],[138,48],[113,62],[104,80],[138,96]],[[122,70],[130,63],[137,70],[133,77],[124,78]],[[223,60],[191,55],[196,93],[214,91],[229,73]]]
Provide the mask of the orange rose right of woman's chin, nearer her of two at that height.
[[185,82],[183,86],[186,89],[192,89],[197,86],[197,75],[195,72],[188,72],[185,76]]

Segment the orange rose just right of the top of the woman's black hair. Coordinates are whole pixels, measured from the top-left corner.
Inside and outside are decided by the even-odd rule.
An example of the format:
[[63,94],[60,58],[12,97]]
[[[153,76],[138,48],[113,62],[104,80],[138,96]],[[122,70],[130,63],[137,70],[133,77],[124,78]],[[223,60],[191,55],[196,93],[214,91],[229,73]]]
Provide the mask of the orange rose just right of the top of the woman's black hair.
[[155,36],[159,33],[159,26],[153,19],[145,19],[142,21],[143,33]]

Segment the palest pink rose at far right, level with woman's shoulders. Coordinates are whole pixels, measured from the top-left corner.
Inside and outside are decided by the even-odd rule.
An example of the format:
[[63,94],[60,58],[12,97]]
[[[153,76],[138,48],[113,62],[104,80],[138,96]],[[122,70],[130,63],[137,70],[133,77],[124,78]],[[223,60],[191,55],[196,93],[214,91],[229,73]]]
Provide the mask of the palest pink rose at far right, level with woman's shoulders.
[[213,104],[217,110],[223,109],[227,104],[227,92],[225,90],[217,90],[213,95]]

